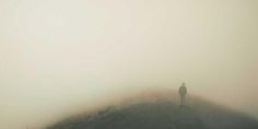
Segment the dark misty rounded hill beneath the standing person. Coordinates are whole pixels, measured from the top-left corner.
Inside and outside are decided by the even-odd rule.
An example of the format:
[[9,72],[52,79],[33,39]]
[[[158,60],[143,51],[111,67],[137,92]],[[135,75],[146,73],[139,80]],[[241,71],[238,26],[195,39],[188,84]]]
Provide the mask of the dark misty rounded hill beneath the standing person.
[[47,129],[258,129],[258,121],[199,98],[188,106],[156,99],[69,118]]

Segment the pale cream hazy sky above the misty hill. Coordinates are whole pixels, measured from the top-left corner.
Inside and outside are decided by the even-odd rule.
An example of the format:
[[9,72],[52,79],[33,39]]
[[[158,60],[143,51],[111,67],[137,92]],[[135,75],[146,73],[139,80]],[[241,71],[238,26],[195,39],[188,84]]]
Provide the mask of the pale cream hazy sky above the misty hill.
[[1,129],[183,81],[258,118],[257,0],[0,0]]

